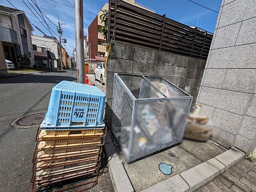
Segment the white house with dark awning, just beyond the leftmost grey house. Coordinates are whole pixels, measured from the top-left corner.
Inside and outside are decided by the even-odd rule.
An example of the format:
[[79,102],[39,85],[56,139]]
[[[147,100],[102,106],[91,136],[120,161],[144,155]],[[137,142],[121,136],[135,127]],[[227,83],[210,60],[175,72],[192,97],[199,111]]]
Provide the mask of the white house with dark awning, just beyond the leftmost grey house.
[[46,36],[44,37],[38,35],[32,35],[33,50],[35,52],[52,52],[55,55],[56,60],[54,60],[54,65],[52,70],[57,70],[61,68],[60,58],[61,58],[61,49],[59,42],[55,37]]

